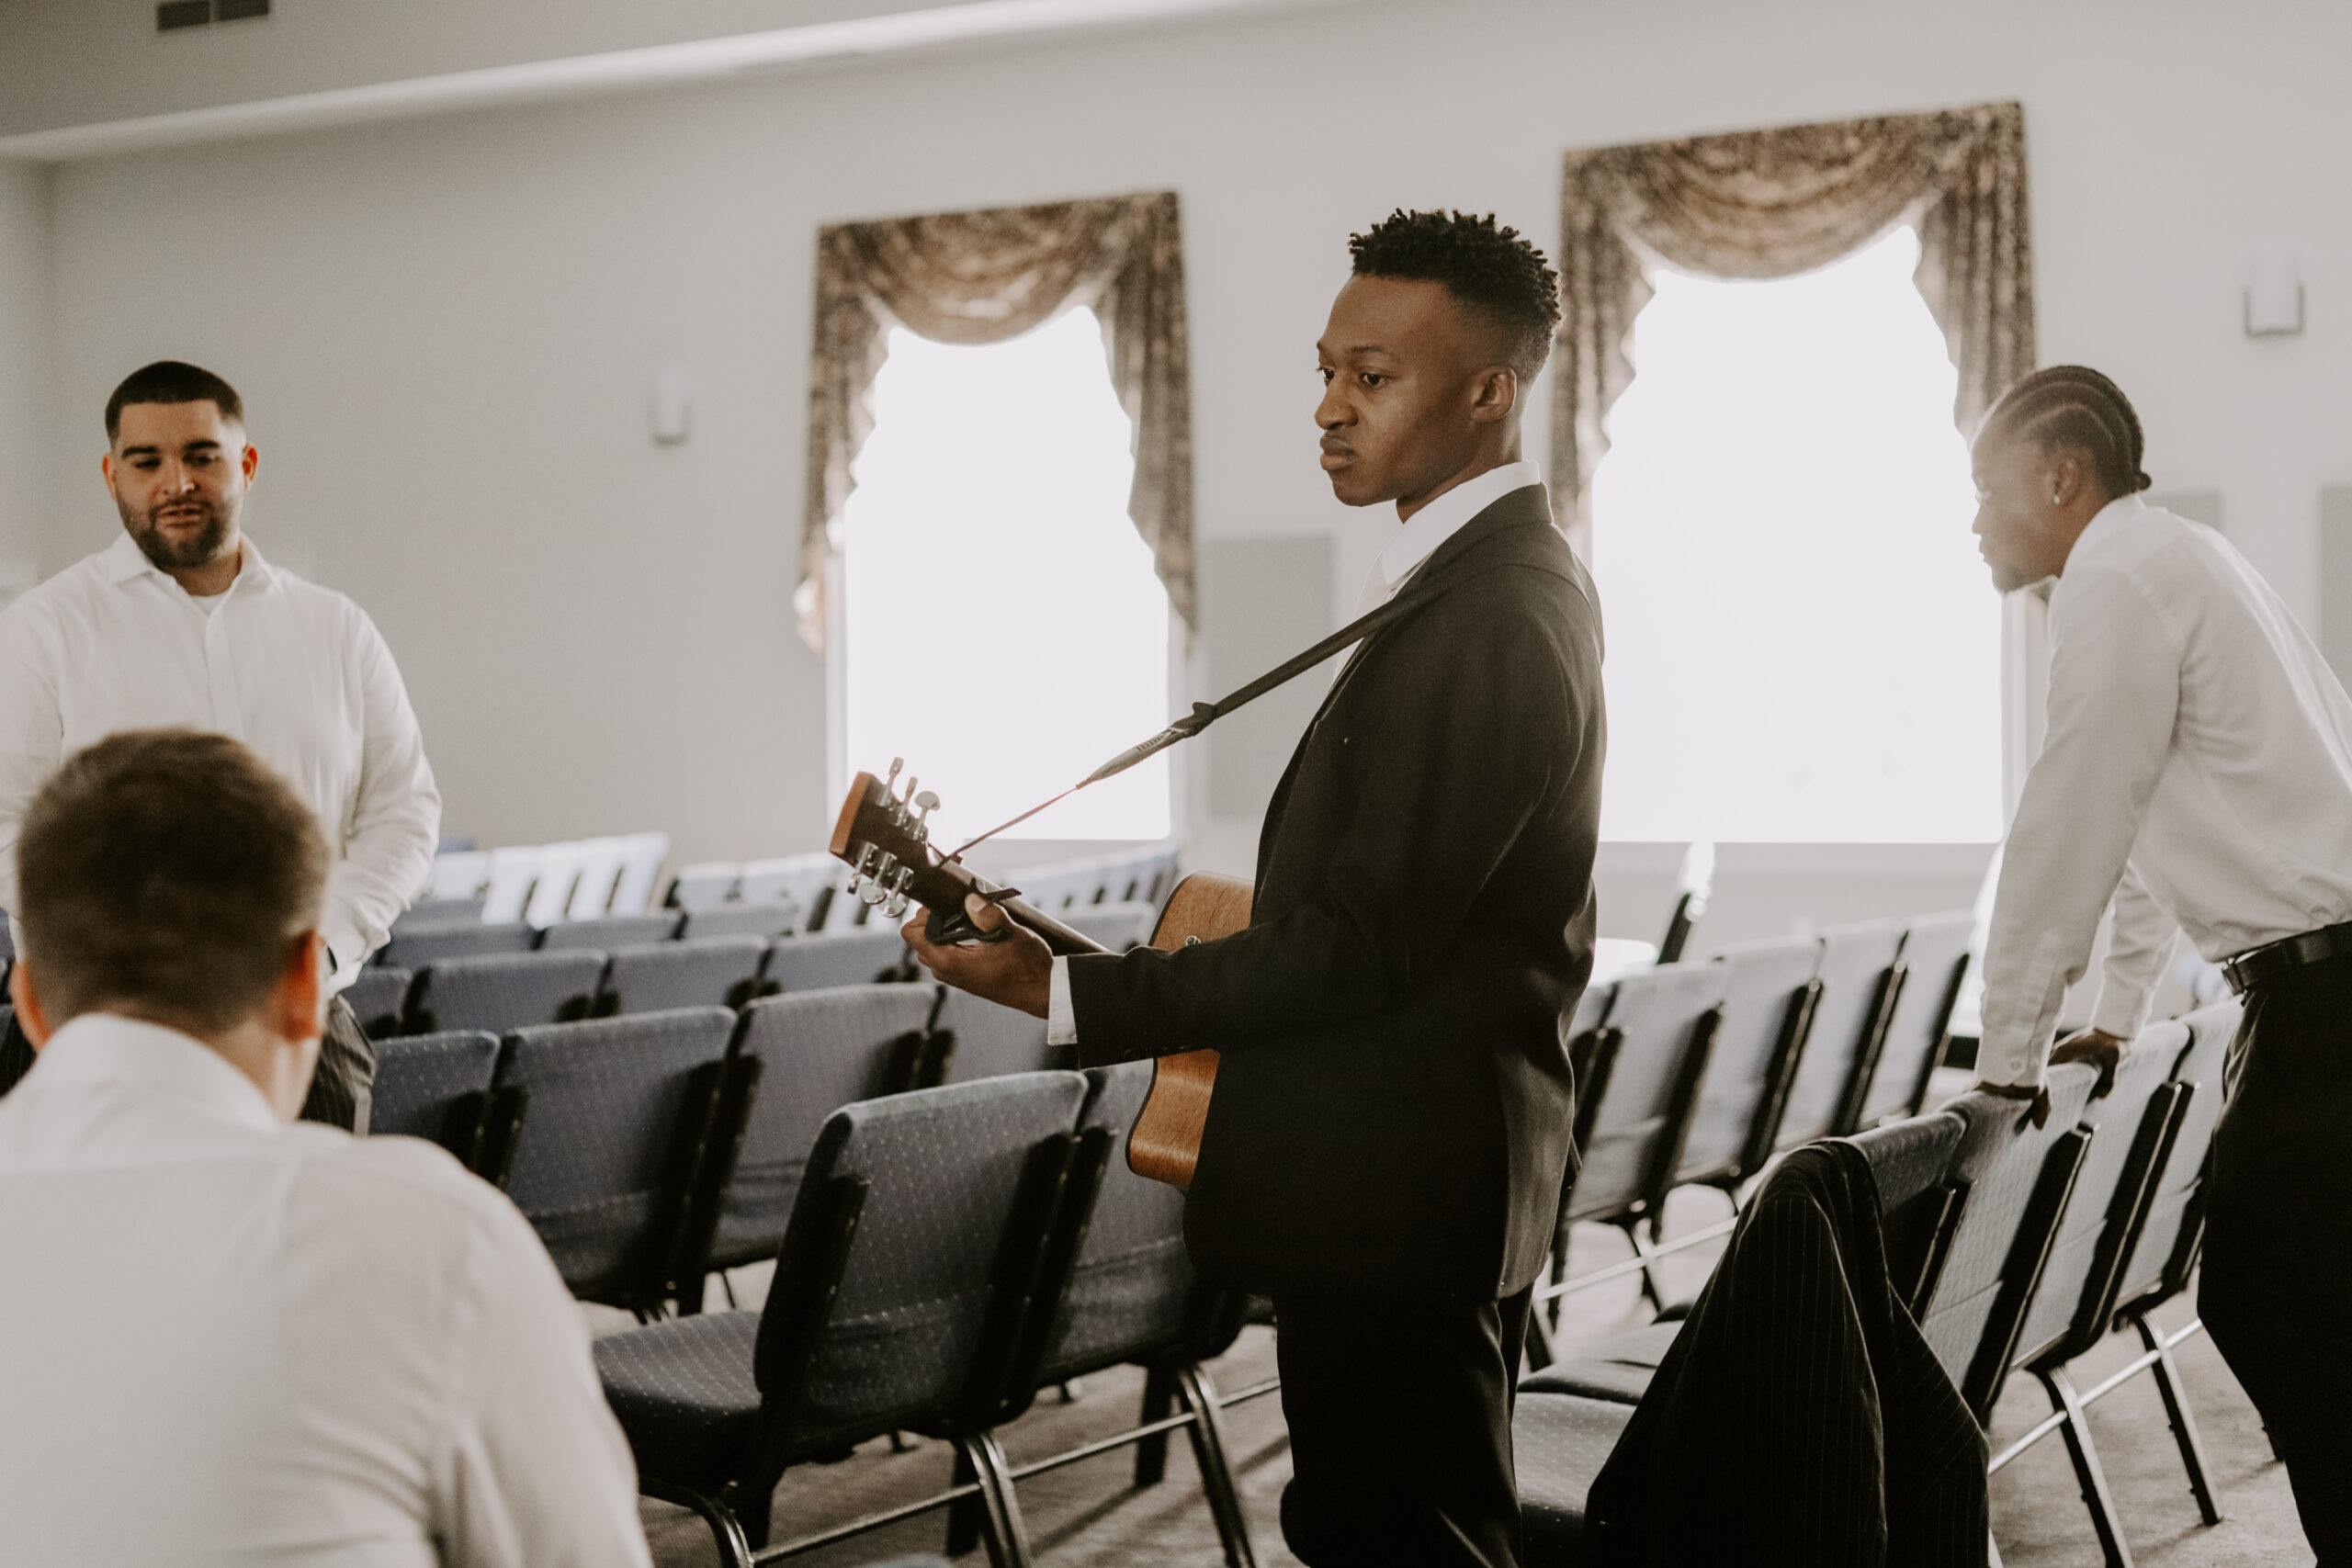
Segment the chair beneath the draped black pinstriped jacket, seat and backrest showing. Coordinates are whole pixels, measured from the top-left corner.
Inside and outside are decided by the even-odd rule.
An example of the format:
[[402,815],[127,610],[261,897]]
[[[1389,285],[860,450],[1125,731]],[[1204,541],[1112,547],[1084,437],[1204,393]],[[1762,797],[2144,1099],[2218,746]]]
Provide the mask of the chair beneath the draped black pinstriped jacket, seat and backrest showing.
[[[1882,1220],[1926,1208],[1938,1225],[1950,1225],[1947,1175],[1962,1133],[1959,1117],[1938,1114],[1898,1121],[1853,1140],[1870,1161]],[[1910,1307],[1907,1281],[1891,1284]],[[1585,1497],[1679,1328],[1679,1321],[1653,1324],[1519,1385],[1512,1453],[1529,1568],[1569,1568],[1585,1559]]]

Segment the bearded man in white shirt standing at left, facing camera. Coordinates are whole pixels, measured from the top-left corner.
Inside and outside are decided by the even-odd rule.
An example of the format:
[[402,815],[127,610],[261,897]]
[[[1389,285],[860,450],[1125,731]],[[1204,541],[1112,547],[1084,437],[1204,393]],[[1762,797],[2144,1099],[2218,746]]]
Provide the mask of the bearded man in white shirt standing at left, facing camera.
[[[33,790],[122,729],[186,724],[245,741],[320,816],[327,987],[383,945],[440,837],[440,790],[383,637],[339,592],[261,559],[240,517],[259,454],[235,388],[195,364],[132,371],[106,402],[101,458],[122,538],[0,614],[0,910]],[[367,1131],[376,1053],[336,994],[303,1119]],[[31,1065],[0,1046],[0,1093]]]

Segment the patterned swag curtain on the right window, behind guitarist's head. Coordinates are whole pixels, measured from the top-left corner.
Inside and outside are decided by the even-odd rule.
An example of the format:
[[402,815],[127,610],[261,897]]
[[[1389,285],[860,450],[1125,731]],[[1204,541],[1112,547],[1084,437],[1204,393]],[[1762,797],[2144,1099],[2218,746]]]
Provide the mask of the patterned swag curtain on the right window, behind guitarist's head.
[[1962,430],[2034,367],[2025,110],[1983,103],[1773,132],[1569,153],[1562,195],[1552,491],[1592,522],[1628,339],[1665,261],[1715,277],[1783,277],[1919,226],[1919,294],[1959,367]]

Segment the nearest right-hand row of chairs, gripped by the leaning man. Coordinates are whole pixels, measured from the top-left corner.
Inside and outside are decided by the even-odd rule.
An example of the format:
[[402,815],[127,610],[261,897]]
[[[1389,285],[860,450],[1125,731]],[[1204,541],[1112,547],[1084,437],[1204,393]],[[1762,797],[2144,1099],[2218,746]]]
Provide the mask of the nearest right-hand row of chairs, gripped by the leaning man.
[[[2042,1128],[2016,1100],[1978,1091],[1853,1135],[1877,1180],[1896,1295],[1976,1420],[1990,1420],[2018,1371],[2049,1394],[2051,1415],[1994,1453],[1990,1469],[2060,1434],[2112,1568],[2129,1568],[2131,1552],[2084,1410],[2143,1373],[2157,1378],[2199,1516],[2220,1521],[2173,1363],[2199,1324],[2164,1331],[2152,1314],[2187,1291],[2197,1267],[2201,1175],[2237,1020],[2225,1001],[2152,1025],[2103,1098],[2091,1067],[2053,1067]],[[2122,1326],[2143,1354],[2079,1389],[2067,1368]],[[1585,1493],[1679,1328],[1663,1319],[1522,1382],[1515,1434],[1531,1563],[1581,1559]]]

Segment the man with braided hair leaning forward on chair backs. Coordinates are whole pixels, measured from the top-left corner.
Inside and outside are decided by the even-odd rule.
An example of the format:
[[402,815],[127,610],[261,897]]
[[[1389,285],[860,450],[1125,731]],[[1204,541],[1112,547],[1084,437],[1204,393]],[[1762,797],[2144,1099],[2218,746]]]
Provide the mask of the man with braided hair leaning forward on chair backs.
[[[2027,376],[1976,437],[1994,583],[2058,578],[2049,733],[2002,860],[1978,1072],[2046,1117],[2044,1058],[2112,1070],[2176,924],[2225,964],[2246,1020],[2199,1316],[2286,1460],[2319,1563],[2352,1563],[2352,701],[2244,555],[2140,501],[2140,444],[2124,393],[2082,367]],[[2091,1027],[2051,1053],[2110,898]]]

